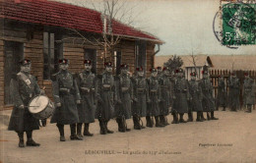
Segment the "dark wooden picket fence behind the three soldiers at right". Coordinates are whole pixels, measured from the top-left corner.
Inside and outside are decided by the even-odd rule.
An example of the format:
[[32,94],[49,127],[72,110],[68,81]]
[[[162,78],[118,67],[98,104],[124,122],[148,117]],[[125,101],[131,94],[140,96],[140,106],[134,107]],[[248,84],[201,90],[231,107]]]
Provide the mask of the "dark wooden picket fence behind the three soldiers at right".
[[[243,71],[243,70],[238,70],[235,71],[236,77],[240,81],[240,108],[242,108],[243,105],[243,98],[242,98],[242,87],[243,87],[243,81],[244,81],[244,73],[248,73],[251,79],[253,79],[256,82],[256,71]],[[212,84],[214,86],[214,96],[217,96],[218,93],[218,81],[219,81],[219,76],[223,75],[224,76],[224,83],[226,86],[226,93],[228,92],[228,87],[227,87],[227,81],[228,78],[230,77],[231,70],[210,70],[210,77]]]

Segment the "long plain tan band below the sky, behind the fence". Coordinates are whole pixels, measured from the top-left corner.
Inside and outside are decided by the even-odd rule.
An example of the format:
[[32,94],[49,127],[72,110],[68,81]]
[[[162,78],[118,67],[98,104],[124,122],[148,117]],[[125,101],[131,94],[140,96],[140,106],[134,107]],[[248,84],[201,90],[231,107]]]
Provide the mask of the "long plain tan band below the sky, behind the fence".
[[[162,66],[172,56],[156,56],[155,67]],[[192,58],[189,55],[179,56],[184,67],[194,67]],[[256,55],[197,55],[197,66],[209,65],[212,70],[256,70]]]

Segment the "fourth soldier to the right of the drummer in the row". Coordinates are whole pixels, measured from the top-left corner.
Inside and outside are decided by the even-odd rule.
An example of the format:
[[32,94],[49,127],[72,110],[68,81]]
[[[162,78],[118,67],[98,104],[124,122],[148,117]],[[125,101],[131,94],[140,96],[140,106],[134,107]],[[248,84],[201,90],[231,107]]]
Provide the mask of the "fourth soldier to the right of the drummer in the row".
[[126,120],[131,119],[131,105],[133,98],[133,85],[128,75],[129,67],[126,64],[121,65],[121,75],[117,77],[117,107],[116,122],[118,124],[119,132],[130,132],[127,128]]

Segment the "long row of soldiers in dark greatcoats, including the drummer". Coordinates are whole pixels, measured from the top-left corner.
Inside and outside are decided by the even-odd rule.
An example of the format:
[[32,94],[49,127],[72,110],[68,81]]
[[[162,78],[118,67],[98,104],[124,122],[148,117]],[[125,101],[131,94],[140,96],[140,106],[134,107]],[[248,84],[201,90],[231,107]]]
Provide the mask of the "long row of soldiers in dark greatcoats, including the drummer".
[[[24,132],[28,137],[27,145],[38,146],[39,143],[32,139],[32,131],[39,129],[39,123],[28,111],[28,104],[33,96],[44,92],[30,74],[31,61],[24,59],[20,64],[21,72],[11,81],[15,107],[9,130],[18,133],[20,147],[25,146]],[[85,70],[76,75],[68,71],[68,66],[67,59],[59,60],[60,71],[52,78],[56,109],[50,123],[56,123],[60,141],[66,140],[64,125],[70,125],[71,139],[93,136],[89,125],[95,122],[95,118],[98,119],[101,135],[113,133],[107,127],[113,118],[116,118],[119,132],[130,131],[126,125],[126,120],[130,118],[133,118],[135,130],[145,128],[142,117],[146,117],[147,127],[154,127],[155,122],[156,127],[164,127],[168,125],[166,116],[169,112],[173,116],[172,124],[186,123],[183,119],[186,113],[188,122],[193,121],[193,112],[197,112],[197,122],[206,120],[203,112],[206,112],[208,120],[218,120],[214,116],[216,107],[208,71],[203,71],[202,81],[196,81],[195,73],[191,74],[191,81],[186,81],[180,68],[175,71],[175,77],[169,77],[166,68],[162,72],[154,68],[151,77],[146,79],[142,68],[137,68],[135,76],[130,77],[126,64],[121,66],[121,74],[115,77],[110,62],[105,63],[102,75],[92,72],[90,60],[85,60]],[[22,117],[20,110],[24,110]]]

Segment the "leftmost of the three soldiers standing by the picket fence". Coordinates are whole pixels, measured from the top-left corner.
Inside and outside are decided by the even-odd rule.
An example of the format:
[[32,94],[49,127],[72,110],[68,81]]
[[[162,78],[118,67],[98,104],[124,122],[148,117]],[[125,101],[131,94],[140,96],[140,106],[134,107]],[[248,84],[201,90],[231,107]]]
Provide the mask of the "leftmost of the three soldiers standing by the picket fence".
[[219,76],[216,110],[219,110],[220,106],[224,107],[223,111],[225,111],[226,89],[225,89],[225,83],[224,83],[224,76]]

